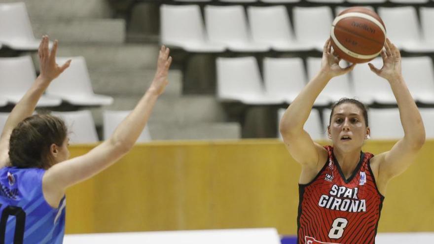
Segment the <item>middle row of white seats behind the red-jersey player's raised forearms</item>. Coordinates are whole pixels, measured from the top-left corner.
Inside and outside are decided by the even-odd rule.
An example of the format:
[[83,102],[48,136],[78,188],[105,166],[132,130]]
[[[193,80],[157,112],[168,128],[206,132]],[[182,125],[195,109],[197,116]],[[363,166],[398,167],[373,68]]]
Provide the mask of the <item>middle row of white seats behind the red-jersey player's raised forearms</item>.
[[[263,79],[254,57],[217,58],[217,96],[221,101],[244,104],[291,103],[321,67],[321,58],[264,58]],[[371,62],[382,67],[380,58]],[[341,66],[346,66],[342,64]],[[307,73],[306,71],[307,70]],[[434,104],[434,71],[430,57],[402,58],[402,74],[413,98]],[[356,65],[349,74],[330,80],[315,105],[324,106],[342,97],[365,104],[396,104],[387,80],[373,73],[367,64]]]

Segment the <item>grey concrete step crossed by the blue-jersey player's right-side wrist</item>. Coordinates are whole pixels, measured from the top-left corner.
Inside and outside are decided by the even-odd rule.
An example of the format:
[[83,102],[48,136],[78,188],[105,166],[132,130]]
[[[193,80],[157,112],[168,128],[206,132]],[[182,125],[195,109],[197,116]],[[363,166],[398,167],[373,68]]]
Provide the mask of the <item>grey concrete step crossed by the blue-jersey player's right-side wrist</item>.
[[[155,70],[89,70],[95,93],[109,96],[142,96],[154,78]],[[169,70],[165,95],[181,96],[181,70]]]

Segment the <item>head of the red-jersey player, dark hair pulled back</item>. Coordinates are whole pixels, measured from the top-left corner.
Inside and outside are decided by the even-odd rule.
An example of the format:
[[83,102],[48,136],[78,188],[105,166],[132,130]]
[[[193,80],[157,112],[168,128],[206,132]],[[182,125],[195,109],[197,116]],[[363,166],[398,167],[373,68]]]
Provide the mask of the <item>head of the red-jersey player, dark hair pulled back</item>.
[[362,109],[352,103],[336,106],[327,133],[333,146],[343,151],[361,150],[363,141],[369,135]]

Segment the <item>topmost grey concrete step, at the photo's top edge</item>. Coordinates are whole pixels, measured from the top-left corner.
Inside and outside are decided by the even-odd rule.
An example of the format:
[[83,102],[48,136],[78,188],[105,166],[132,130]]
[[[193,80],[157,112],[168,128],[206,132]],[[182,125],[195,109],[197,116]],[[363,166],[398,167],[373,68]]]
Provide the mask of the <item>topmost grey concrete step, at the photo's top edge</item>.
[[108,0],[0,0],[25,2],[31,20],[110,18],[113,10]]

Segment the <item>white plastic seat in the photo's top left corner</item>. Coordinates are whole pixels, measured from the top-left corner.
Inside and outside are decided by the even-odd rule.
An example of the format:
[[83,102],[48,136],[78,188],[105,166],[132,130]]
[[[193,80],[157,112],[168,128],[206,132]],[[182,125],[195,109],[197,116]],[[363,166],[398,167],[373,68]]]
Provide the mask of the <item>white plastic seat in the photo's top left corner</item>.
[[39,47],[24,2],[0,3],[0,42],[15,50]]

